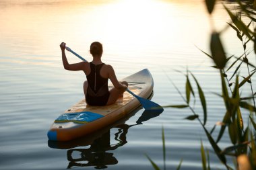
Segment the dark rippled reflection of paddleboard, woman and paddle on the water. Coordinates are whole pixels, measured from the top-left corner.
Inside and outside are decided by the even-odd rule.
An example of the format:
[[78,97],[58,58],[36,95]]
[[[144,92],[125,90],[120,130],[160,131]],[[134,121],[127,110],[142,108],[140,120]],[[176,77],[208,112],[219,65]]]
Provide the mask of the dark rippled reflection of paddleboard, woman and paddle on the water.
[[[127,125],[125,123],[121,124],[125,120],[129,119],[137,110],[129,116],[119,120],[119,122],[106,127],[98,132],[94,132],[88,136],[71,140],[69,142],[57,142],[49,140],[48,144],[51,148],[71,148],[67,150],[67,160],[69,161],[68,169],[72,167],[95,167],[95,169],[105,169],[107,165],[115,165],[118,163],[117,158],[115,158],[114,153],[109,151],[116,150],[117,148],[123,146],[127,143],[127,133],[128,129],[132,126],[143,124],[152,118],[156,118],[161,112],[152,112],[145,110],[141,116],[136,121],[136,124]],[[117,129],[115,136],[115,144],[110,143],[110,130]],[[74,148],[77,146],[89,146],[89,148]],[[73,155],[79,155],[75,157]],[[86,163],[85,163],[86,162]]]

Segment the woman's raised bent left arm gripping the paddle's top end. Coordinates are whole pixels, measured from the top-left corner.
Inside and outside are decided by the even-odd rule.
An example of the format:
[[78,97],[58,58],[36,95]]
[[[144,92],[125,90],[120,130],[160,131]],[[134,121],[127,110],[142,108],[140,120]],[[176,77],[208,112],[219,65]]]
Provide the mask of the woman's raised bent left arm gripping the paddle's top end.
[[66,47],[66,43],[62,42],[61,45],[61,56],[62,56],[62,62],[63,62],[63,66],[65,70],[69,70],[69,71],[86,71],[86,62],[78,62],[75,64],[69,64],[69,62],[67,61],[67,57],[65,54],[65,47]]

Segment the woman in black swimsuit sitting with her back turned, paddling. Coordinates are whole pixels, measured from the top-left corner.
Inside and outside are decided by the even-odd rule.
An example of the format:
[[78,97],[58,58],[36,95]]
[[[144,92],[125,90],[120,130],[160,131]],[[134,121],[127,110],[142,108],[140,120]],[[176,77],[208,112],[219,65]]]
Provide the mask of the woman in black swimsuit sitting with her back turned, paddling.
[[[84,82],[84,96],[89,105],[110,105],[115,103],[120,95],[128,87],[128,83],[123,81],[119,83],[112,66],[105,65],[102,60],[102,44],[93,42],[90,46],[92,62],[78,62],[69,64],[65,54],[65,42],[62,42],[61,52],[64,69],[69,71],[84,71],[87,81]],[[114,87],[108,91],[108,79]]]

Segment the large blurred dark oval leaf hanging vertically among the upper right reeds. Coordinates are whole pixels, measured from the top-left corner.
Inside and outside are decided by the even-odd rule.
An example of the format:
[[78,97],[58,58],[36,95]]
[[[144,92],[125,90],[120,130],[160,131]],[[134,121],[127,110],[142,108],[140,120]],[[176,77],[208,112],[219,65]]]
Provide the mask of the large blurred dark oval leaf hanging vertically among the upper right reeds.
[[212,58],[218,69],[224,69],[226,66],[226,54],[220,40],[220,34],[213,32],[211,36],[210,48]]

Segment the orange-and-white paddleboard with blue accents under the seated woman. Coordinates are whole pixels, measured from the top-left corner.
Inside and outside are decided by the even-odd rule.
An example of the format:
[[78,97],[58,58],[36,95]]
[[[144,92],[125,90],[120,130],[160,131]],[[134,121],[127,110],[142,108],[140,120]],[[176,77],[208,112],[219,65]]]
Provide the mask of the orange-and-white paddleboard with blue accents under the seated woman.
[[[130,83],[129,89],[143,98],[150,97],[153,91],[154,82],[148,69],[143,69],[122,81]],[[123,118],[139,105],[139,101],[126,91],[123,97],[112,105],[90,106],[86,105],[83,99],[53,122],[48,138],[64,141],[84,136]]]

